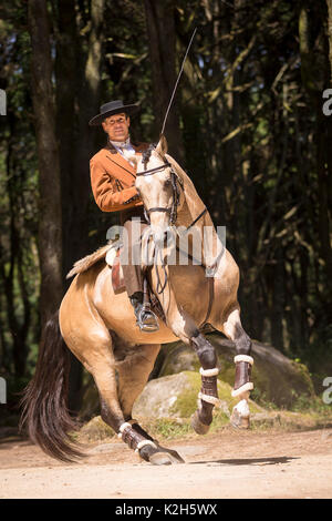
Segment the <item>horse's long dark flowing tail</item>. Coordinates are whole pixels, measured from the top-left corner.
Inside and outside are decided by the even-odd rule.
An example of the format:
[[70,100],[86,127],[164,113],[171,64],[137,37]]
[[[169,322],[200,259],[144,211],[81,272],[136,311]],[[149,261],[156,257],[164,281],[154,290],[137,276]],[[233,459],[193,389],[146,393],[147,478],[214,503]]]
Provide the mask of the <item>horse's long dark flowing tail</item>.
[[46,323],[35,374],[21,400],[20,428],[44,452],[62,461],[84,456],[71,439],[77,423],[68,409],[70,351],[59,325],[59,311]]

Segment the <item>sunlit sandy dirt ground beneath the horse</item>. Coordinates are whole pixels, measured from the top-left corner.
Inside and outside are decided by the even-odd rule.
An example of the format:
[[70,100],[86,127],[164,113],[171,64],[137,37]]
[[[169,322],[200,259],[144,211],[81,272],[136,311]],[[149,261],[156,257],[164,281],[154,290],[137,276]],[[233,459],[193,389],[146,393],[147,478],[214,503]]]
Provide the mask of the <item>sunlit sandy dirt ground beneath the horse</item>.
[[[165,445],[165,443],[164,443]],[[185,463],[154,467],[120,440],[61,463],[20,439],[0,442],[0,498],[332,498],[332,429],[235,431],[167,443]]]

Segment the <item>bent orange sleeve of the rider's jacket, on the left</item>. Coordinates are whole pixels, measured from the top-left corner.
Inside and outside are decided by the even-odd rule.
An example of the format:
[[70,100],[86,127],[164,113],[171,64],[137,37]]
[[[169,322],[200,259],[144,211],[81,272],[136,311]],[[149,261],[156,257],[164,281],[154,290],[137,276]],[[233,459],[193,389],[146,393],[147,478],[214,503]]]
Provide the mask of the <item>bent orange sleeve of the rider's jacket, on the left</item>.
[[135,186],[123,188],[121,192],[114,190],[112,178],[100,161],[90,161],[91,187],[94,200],[103,212],[117,212],[142,204]]

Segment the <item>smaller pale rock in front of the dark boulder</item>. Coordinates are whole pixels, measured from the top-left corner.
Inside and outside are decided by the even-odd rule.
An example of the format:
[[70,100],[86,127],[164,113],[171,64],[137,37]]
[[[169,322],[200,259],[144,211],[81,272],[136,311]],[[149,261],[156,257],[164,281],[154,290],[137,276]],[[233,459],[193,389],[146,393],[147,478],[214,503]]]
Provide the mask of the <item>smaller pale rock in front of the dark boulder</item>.
[[[197,396],[200,390],[200,375],[184,371],[151,380],[133,408],[134,418],[190,418],[197,409]],[[231,387],[218,380],[218,396],[221,400],[219,412],[228,420],[238,399],[231,398]],[[251,412],[262,409],[250,401]]]

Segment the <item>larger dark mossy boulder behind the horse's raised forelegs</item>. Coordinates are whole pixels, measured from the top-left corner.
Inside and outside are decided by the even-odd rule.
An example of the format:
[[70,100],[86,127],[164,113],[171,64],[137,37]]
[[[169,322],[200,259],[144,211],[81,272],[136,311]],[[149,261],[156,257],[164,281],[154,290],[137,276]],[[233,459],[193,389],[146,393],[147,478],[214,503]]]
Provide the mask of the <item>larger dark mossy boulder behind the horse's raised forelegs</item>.
[[[219,379],[234,385],[236,349],[232,341],[218,334],[206,335],[216,347],[220,366]],[[272,402],[278,407],[291,408],[300,396],[313,397],[312,380],[305,366],[287,358],[271,346],[252,341],[255,359],[252,399],[259,403]],[[183,343],[165,345],[162,350],[164,362],[158,377],[180,371],[198,371],[199,361],[194,350]]]

